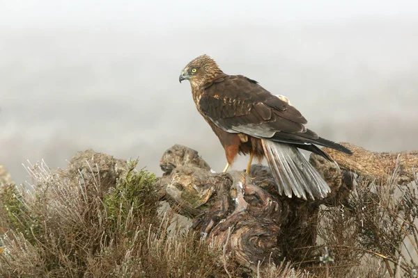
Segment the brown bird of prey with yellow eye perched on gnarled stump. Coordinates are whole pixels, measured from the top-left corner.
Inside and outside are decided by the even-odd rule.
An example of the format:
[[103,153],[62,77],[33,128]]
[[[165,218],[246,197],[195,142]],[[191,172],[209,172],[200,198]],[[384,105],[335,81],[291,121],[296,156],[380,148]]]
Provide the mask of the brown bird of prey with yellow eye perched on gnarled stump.
[[190,61],[179,81],[188,80],[196,108],[216,133],[226,154],[228,170],[237,154],[265,157],[280,195],[323,199],[330,187],[304,158],[305,149],[333,161],[316,145],[346,154],[349,149],[320,138],[307,129],[307,120],[283,96],[272,95],[257,81],[222,72],[215,60],[202,55]]

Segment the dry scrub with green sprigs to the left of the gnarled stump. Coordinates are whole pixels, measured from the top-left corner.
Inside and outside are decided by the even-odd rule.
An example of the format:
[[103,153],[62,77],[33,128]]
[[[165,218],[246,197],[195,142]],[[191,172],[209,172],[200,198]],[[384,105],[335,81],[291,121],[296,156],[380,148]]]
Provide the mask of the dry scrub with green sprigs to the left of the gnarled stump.
[[[157,215],[153,174],[134,170],[102,193],[90,179],[31,170],[31,190],[1,188],[6,250],[1,277],[222,277],[221,249],[192,233],[169,233]],[[93,172],[93,171],[92,171]]]

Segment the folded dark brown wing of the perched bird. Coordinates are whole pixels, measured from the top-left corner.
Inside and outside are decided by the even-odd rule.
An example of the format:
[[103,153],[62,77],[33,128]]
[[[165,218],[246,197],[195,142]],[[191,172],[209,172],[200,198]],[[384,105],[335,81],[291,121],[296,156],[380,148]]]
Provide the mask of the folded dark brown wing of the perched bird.
[[246,133],[256,138],[273,138],[278,133],[280,142],[297,141],[295,135],[302,134],[312,140],[318,138],[306,129],[307,120],[295,107],[245,76],[217,79],[205,88],[198,107],[220,129],[231,133]]

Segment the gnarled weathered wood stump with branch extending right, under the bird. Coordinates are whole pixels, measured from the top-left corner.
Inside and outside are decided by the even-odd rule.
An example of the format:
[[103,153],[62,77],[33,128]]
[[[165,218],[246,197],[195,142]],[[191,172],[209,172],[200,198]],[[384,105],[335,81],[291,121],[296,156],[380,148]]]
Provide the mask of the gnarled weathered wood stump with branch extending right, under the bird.
[[412,166],[418,165],[418,152],[382,154],[343,143],[353,156],[323,149],[339,164],[311,154],[310,163],[330,185],[325,199],[304,201],[280,196],[270,169],[251,165],[249,174],[239,171],[215,173],[192,149],[174,145],[162,156],[164,175],[157,181],[162,198],[178,213],[192,218],[193,229],[201,236],[228,243],[226,252],[247,268],[258,261],[279,263],[284,258],[303,261],[316,245],[320,205],[345,204],[357,177],[383,181],[398,163],[398,183],[414,179]]

